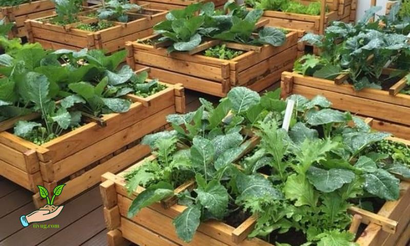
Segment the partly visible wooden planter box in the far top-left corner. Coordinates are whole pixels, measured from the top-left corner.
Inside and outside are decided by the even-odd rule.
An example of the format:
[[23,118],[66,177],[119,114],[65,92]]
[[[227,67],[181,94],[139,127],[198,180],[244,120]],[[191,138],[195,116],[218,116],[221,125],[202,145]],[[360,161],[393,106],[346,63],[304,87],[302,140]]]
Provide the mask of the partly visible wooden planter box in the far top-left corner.
[[0,18],[5,18],[6,23],[15,22],[16,25],[9,37],[24,37],[27,31],[24,27],[26,19],[35,19],[54,14],[54,3],[51,0],[33,1],[12,7],[2,7]]

